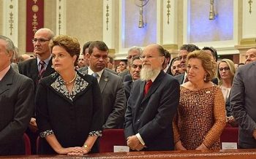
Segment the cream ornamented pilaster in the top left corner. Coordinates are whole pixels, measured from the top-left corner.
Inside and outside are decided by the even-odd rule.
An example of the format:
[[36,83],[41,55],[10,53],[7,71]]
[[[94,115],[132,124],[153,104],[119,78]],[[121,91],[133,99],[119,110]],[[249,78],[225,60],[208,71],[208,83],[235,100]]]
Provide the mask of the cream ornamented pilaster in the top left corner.
[[18,47],[18,0],[4,0],[3,15],[3,35]]

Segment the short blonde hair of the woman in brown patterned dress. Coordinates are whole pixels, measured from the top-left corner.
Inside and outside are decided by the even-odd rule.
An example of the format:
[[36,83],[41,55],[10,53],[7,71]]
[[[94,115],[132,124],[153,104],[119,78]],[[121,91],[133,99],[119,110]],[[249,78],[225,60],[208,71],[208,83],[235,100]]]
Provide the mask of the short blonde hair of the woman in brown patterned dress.
[[212,60],[211,55],[208,55],[205,50],[195,50],[187,55],[187,63],[190,58],[197,58],[202,62],[203,69],[206,71],[205,82],[211,81],[216,74],[217,63]]

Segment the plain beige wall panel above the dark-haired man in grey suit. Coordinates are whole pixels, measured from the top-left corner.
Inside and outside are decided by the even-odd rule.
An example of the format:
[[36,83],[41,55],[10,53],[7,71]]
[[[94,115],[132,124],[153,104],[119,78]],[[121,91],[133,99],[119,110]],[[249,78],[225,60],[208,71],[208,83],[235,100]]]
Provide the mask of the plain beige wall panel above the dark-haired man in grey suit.
[[102,40],[102,0],[67,1],[67,34],[78,38],[80,45],[85,42]]

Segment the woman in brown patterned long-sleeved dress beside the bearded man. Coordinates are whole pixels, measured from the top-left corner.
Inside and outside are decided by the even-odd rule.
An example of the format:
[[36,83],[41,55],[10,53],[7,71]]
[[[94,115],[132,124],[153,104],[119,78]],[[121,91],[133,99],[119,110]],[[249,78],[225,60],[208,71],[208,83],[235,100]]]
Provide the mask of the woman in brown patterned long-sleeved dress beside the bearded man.
[[219,150],[225,128],[222,90],[211,82],[216,62],[204,50],[187,56],[189,82],[181,85],[178,113],[173,121],[176,150]]

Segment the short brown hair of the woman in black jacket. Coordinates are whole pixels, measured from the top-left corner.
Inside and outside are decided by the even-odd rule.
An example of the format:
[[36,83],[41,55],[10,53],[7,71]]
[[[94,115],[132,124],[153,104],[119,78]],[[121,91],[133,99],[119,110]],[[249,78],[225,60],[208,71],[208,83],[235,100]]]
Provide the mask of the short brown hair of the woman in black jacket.
[[50,40],[49,47],[50,50],[53,51],[54,46],[60,46],[63,47],[71,57],[74,55],[77,56],[75,63],[78,63],[78,57],[80,55],[80,44],[78,42],[78,39],[75,39],[72,36],[67,35],[59,35],[53,37],[53,39]]

